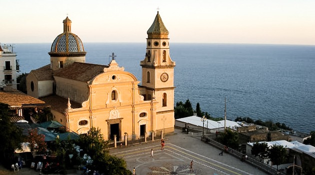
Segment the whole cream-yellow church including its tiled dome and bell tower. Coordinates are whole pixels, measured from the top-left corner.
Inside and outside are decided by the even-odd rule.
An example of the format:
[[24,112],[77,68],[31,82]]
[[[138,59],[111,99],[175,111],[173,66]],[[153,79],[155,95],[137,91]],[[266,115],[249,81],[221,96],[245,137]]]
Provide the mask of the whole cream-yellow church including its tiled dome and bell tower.
[[174,131],[175,62],[169,56],[168,31],[159,13],[147,30],[142,84],[114,56],[108,65],[85,63],[80,38],[63,20],[63,33],[51,44],[50,64],[26,77],[27,94],[51,106],[55,121],[85,134],[99,128],[105,140],[136,140]]

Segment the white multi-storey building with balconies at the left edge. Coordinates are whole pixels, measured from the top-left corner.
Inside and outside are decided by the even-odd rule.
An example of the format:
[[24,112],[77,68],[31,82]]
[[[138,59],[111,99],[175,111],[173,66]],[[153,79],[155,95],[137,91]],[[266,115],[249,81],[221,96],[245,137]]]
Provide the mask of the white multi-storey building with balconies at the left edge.
[[19,64],[13,46],[0,44],[0,88],[11,86],[16,89],[16,72],[19,72]]

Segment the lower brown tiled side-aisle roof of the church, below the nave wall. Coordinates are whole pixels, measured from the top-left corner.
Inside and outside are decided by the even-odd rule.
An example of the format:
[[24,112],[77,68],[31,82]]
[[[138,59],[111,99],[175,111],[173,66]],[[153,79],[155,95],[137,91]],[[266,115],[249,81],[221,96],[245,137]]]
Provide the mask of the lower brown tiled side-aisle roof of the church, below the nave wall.
[[[50,95],[50,96],[46,96],[46,97],[42,97],[40,98],[40,100],[44,101],[47,105],[51,106],[51,109],[56,110],[60,113],[65,112],[65,110],[68,108],[68,99],[62,98],[60,96],[57,95]],[[71,101],[71,108],[75,109],[75,108],[81,108],[81,104]]]

